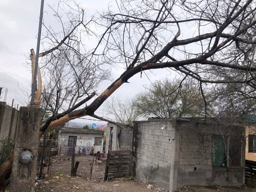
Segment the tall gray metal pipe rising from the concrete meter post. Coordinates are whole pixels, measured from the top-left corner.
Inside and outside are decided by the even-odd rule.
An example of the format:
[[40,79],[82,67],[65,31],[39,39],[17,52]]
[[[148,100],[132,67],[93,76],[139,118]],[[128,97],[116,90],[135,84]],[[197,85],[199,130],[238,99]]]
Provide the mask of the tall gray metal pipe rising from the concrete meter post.
[[41,0],[41,8],[40,8],[40,17],[39,17],[39,33],[37,36],[37,52],[35,53],[35,71],[34,71],[34,80],[32,83],[32,93],[31,93],[31,105],[34,105],[35,98],[35,89],[37,88],[37,66],[39,63],[39,48],[40,48],[40,39],[41,39],[41,31],[42,31],[42,21],[43,21],[43,2]]

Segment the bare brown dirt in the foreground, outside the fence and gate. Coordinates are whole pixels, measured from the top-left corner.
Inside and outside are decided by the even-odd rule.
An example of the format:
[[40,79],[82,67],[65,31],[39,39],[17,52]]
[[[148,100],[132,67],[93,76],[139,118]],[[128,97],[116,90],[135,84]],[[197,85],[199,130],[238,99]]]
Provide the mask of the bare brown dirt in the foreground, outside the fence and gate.
[[[151,190],[149,188],[151,188]],[[70,176],[50,176],[43,180],[40,180],[37,184],[35,191],[90,191],[90,192],[99,192],[99,191],[113,191],[113,192],[152,192],[152,191],[165,191],[162,188],[159,188],[157,185],[149,184],[149,183],[139,183],[135,180],[129,180],[127,178],[121,178],[119,180],[114,181],[88,181],[79,176],[70,177]],[[246,186],[242,186],[240,188],[231,188],[231,187],[221,187],[221,186],[211,186],[211,187],[203,187],[203,186],[185,186],[180,190],[176,191],[187,191],[187,192],[239,192],[239,191],[247,191],[253,192],[256,189],[247,188]],[[166,192],[166,191],[165,191]]]

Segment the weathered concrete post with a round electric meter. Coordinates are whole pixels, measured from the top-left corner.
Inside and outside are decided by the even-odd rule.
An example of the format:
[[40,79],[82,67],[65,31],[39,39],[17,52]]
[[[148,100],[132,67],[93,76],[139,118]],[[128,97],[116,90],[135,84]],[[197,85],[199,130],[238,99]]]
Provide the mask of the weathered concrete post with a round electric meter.
[[20,108],[11,173],[12,192],[35,191],[40,120],[40,108]]

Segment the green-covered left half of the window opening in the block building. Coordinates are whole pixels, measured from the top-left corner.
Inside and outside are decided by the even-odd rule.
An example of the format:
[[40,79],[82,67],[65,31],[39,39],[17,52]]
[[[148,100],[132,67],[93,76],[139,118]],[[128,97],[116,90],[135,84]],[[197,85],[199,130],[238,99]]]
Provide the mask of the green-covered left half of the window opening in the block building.
[[226,146],[221,135],[213,137],[213,166],[226,167]]

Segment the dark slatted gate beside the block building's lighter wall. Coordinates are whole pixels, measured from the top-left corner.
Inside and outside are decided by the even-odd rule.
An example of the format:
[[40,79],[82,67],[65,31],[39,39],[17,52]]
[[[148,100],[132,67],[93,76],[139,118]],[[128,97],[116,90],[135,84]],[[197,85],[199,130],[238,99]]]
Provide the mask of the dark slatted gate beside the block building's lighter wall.
[[104,181],[131,175],[132,152],[116,150],[107,154]]

